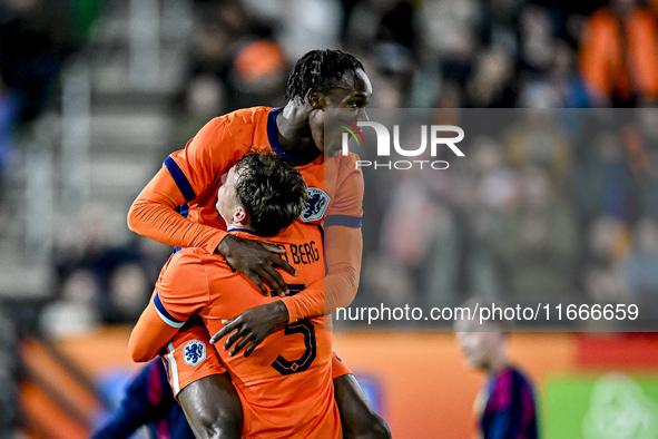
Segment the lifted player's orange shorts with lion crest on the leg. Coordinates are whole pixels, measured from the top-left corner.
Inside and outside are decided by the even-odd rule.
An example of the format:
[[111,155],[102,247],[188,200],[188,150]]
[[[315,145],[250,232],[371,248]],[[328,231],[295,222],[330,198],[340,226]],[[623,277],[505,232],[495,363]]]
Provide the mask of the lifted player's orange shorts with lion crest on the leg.
[[[222,349],[222,347],[219,348]],[[200,319],[190,319],[165,347],[160,358],[174,396],[186,386],[217,373],[226,372],[219,354],[210,344],[210,334]],[[352,373],[332,349],[332,379]]]

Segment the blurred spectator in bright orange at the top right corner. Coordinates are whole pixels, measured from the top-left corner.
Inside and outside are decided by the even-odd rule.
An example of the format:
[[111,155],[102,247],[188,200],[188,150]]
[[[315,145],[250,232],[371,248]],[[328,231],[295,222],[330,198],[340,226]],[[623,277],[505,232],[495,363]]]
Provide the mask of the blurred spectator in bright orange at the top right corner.
[[596,106],[632,107],[658,98],[656,16],[636,0],[612,0],[588,18],[580,68]]

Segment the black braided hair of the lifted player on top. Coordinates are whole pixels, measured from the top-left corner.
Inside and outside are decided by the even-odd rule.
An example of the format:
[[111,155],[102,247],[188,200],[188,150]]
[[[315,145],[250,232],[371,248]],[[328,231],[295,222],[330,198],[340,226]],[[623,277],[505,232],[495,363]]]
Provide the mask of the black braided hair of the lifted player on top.
[[297,60],[288,76],[285,98],[304,99],[311,90],[323,91],[345,71],[363,70],[354,56],[342,50],[312,50]]

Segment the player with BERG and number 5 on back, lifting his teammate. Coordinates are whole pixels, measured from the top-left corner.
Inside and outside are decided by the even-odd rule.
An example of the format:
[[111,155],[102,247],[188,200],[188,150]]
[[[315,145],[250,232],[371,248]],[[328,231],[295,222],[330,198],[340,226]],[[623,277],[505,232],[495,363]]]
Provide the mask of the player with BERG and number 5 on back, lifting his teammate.
[[[293,265],[296,277],[284,275],[298,290],[324,276],[317,235],[311,227],[287,227],[307,201],[304,179],[292,165],[272,154],[253,153],[226,174],[218,191],[217,211],[226,220],[228,232],[236,236],[266,240],[288,254],[296,248],[316,250],[317,257],[298,260]],[[184,248],[163,270],[154,296],[130,336],[130,354],[136,361],[153,359],[193,315],[200,316],[210,331],[218,331],[223,318],[274,301],[276,295],[264,296],[223,255]],[[276,331],[252,358],[245,358],[243,352],[228,355],[219,351],[242,401],[243,437],[342,437],[333,396],[331,339],[324,316],[318,316]],[[185,349],[188,363],[216,354],[198,341]],[[174,367],[167,361],[168,369]]]

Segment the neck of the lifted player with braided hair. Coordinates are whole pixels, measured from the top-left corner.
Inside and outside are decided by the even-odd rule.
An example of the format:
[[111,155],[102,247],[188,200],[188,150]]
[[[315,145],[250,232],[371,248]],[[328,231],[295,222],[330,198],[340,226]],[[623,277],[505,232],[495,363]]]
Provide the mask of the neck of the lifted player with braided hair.
[[308,109],[303,104],[289,101],[283,108],[276,117],[276,137],[284,153],[292,157],[318,152],[308,126]]

